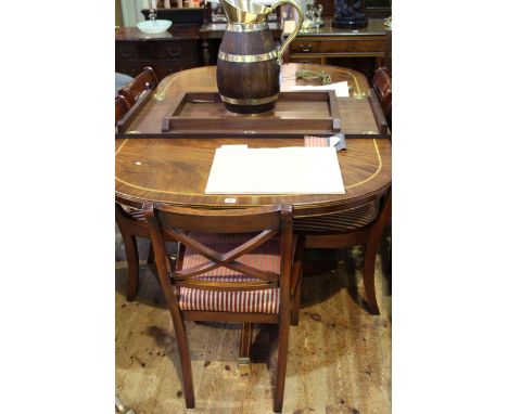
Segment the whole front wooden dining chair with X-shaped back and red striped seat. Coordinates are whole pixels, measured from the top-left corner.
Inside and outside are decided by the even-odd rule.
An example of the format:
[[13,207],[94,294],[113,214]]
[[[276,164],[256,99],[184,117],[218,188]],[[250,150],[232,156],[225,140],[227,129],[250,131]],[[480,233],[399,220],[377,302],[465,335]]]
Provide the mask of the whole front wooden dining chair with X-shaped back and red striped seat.
[[[292,207],[205,210],[145,203],[143,214],[178,342],[187,407],[194,407],[194,390],[185,321],[243,323],[240,357],[250,352],[252,324],[267,323],[279,325],[274,411],[280,413],[303,254]],[[165,236],[179,242],[175,262],[167,259]]]

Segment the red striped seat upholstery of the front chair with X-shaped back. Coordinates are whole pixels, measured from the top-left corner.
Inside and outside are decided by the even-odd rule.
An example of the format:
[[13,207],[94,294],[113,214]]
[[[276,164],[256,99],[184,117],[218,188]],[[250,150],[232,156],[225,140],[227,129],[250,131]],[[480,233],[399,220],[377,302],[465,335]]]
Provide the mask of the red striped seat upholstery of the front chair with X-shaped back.
[[[253,235],[190,233],[189,236],[218,253],[227,253],[252,238]],[[182,269],[203,264],[207,261],[208,259],[205,257],[190,248],[186,248]],[[280,273],[280,240],[269,240],[250,254],[240,257],[237,261],[256,269]],[[224,267],[200,274],[193,279],[213,282],[247,282],[256,280],[255,277],[243,275]],[[278,313],[279,288],[251,292],[212,292],[180,287],[178,305],[181,310]]]

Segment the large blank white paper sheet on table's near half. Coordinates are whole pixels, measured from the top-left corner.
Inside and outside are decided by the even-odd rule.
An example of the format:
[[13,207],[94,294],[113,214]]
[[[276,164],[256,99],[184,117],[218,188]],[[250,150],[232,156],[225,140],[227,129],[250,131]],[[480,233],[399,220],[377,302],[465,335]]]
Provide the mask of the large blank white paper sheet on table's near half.
[[217,148],[206,194],[344,194],[334,147]]

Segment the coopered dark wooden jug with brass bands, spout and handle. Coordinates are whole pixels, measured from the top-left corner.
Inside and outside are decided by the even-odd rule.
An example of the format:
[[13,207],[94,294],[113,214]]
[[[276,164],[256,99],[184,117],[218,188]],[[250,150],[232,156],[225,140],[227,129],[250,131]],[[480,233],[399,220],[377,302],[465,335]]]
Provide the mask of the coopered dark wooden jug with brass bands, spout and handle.
[[[228,111],[259,114],[274,109],[280,90],[280,61],[303,23],[294,0],[280,0],[270,8],[251,0],[220,0],[228,25],[217,59],[217,87]],[[278,51],[267,17],[276,8],[290,4],[299,12],[294,31]]]

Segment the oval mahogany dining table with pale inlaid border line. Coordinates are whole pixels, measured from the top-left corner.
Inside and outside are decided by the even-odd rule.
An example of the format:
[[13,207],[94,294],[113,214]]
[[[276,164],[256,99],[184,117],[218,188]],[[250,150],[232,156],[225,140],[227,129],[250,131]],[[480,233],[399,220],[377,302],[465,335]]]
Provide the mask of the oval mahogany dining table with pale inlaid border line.
[[[346,151],[336,153],[344,194],[206,194],[215,151],[220,146],[304,146],[304,139],[174,138],[162,133],[158,137],[168,107],[181,92],[217,92],[215,66],[204,66],[162,79],[129,125],[132,133],[116,135],[116,200],[134,208],[141,208],[144,202],[212,209],[288,204],[293,206],[297,219],[326,215],[330,208],[347,210],[385,195],[392,182],[392,144],[390,137],[377,133],[374,115],[361,109],[371,94],[366,77],[345,67],[291,63],[281,66],[281,91],[299,85],[319,85],[319,79],[299,78],[296,74],[301,69],[325,72],[332,82],[347,81],[350,96],[338,98],[336,103],[341,130],[346,137]],[[153,138],[140,138],[144,132]]]

